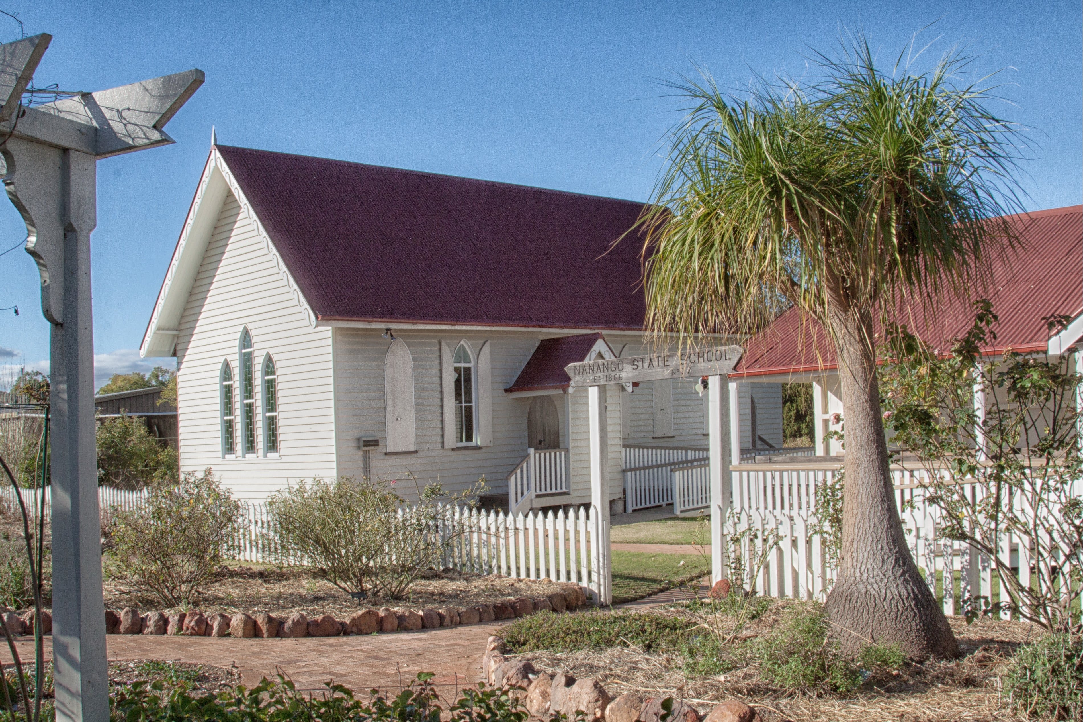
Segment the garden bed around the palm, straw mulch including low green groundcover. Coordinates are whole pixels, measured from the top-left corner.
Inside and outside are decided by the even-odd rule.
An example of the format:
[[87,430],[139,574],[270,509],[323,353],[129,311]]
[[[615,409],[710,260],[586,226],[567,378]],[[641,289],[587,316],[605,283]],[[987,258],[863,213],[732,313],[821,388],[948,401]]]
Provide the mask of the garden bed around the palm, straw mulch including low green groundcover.
[[[791,606],[793,603],[772,603],[734,644],[756,644],[779,627]],[[962,658],[921,666],[903,663],[871,674],[852,692],[831,694],[782,688],[767,681],[755,661],[739,662],[731,669],[703,665],[703,648],[696,646],[703,628],[696,627],[700,620],[688,615],[687,608],[636,613],[621,622],[605,621],[598,615],[597,623],[590,623],[595,616],[520,620],[504,630],[506,654],[511,660],[532,662],[539,672],[597,680],[613,698],[626,693],[673,696],[702,714],[718,702],[740,699],[758,710],[760,722],[1021,720],[1004,707],[1000,676],[1016,648],[1041,633],[1023,622],[980,619],[968,626],[962,618],[952,618]]]

